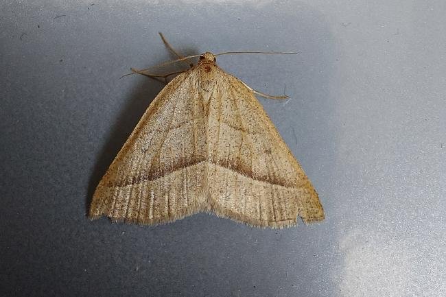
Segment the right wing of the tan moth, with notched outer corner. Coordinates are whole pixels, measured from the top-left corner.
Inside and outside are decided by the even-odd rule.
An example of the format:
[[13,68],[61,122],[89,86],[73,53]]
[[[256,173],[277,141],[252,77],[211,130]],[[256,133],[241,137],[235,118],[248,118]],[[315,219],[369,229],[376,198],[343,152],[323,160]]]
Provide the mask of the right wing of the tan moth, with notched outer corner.
[[222,73],[209,108],[211,209],[254,226],[281,228],[324,218],[318,195],[255,95]]

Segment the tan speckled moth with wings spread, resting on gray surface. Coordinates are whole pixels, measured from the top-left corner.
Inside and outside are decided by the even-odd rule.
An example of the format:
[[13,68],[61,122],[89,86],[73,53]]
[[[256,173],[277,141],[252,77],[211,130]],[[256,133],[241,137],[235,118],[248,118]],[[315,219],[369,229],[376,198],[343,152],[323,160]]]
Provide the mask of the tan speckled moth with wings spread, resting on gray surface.
[[91,219],[154,225],[207,211],[271,228],[294,226],[297,216],[324,219],[255,97],[264,94],[220,69],[215,56],[202,54],[155,97],[99,182]]

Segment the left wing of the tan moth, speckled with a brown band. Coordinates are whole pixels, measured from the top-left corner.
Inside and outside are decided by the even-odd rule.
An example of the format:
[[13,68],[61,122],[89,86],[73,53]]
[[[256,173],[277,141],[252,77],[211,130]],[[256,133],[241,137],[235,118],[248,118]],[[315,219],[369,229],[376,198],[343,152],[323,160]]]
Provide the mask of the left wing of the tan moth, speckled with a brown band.
[[198,211],[206,119],[190,74],[178,75],[150,104],[99,182],[91,218],[157,224]]

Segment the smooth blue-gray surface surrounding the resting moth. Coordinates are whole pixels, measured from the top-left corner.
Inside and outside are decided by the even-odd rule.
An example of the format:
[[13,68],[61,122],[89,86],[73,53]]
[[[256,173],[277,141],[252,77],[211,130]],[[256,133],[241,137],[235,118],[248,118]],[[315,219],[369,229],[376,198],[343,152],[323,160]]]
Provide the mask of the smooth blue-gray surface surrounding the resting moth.
[[[446,295],[445,1],[29,2],[0,5],[1,296]],[[158,31],[185,54],[298,51],[218,62],[286,86],[260,100],[325,222],[86,219],[162,88],[119,80],[172,59]]]

